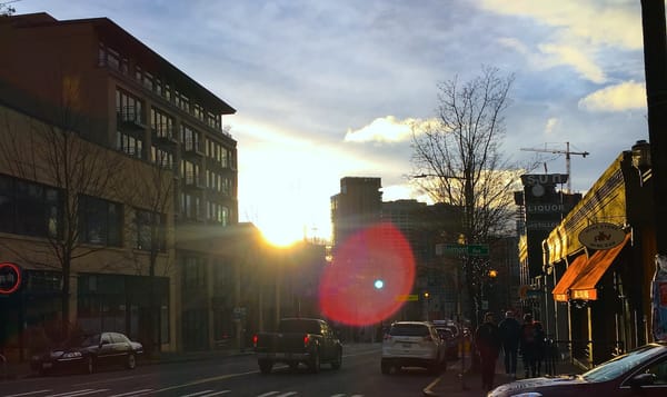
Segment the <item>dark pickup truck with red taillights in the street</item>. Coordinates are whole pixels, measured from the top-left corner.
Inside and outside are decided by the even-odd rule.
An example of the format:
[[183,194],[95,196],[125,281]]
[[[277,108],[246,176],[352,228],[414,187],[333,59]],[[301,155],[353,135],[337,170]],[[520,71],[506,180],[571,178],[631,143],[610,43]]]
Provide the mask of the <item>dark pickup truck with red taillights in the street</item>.
[[269,374],[273,364],[285,363],[296,370],[299,363],[311,373],[319,373],[328,363],[338,369],[342,364],[342,344],[329,324],[316,318],[283,318],[276,333],[259,333],[252,337],[257,364]]

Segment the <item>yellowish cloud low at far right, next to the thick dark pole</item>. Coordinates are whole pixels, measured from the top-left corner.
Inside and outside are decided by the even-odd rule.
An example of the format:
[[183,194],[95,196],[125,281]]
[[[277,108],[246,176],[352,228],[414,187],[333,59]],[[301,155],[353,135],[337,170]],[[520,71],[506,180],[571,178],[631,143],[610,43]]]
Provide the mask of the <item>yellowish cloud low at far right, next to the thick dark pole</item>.
[[579,101],[579,108],[588,111],[623,111],[646,108],[646,88],[633,80],[609,86]]

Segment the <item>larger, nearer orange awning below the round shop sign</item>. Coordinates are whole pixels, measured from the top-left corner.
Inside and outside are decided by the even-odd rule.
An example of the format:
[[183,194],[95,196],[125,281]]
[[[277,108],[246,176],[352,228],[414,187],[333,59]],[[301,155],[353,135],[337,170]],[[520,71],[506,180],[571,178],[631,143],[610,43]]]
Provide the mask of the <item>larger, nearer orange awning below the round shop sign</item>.
[[611,266],[618,254],[623,250],[628,241],[630,240],[630,235],[626,235],[625,239],[621,244],[614,248],[601,249],[595,252],[586,267],[581,270],[581,274],[575,282],[569,287],[570,289],[570,298],[571,299],[585,299],[585,300],[596,300],[597,299],[597,289],[595,286],[603,278],[607,269]]

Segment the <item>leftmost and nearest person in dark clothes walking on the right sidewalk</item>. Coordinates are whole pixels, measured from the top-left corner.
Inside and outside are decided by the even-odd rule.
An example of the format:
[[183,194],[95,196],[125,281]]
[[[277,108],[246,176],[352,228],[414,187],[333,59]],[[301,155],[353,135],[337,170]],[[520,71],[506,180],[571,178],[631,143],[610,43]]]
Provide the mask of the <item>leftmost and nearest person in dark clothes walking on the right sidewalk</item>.
[[484,322],[475,331],[475,346],[479,354],[481,366],[481,387],[486,391],[494,388],[494,376],[496,375],[496,360],[500,351],[500,331],[494,320],[494,314],[487,312]]

